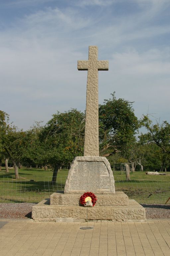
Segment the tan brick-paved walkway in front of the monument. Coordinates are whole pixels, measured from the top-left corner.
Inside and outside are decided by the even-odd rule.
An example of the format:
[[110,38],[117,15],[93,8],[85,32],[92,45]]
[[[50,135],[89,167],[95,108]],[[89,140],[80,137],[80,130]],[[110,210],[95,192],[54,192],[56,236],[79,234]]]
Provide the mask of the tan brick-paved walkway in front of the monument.
[[0,255],[170,256],[170,221],[1,223]]

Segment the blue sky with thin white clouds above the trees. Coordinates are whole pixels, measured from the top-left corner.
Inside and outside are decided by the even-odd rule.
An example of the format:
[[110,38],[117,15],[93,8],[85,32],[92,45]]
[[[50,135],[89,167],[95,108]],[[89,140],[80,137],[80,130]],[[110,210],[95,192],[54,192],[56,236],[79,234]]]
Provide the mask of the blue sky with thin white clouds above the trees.
[[[99,103],[134,101],[135,115],[170,122],[170,0],[0,0],[0,110],[19,129],[57,111],[84,111],[89,45]],[[156,119],[155,119],[156,118]]]

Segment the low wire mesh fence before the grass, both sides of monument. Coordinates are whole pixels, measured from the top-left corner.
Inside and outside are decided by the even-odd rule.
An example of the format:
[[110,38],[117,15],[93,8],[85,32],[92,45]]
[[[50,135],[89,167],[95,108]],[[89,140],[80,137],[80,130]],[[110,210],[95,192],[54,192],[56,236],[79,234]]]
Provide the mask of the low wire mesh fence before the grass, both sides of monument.
[[[13,176],[4,176],[0,181],[0,202],[31,202],[38,203],[50,194],[64,190],[67,175],[57,176],[56,183],[51,183],[51,176],[43,181],[15,179]],[[170,197],[170,179],[131,180],[121,177],[115,180],[116,191],[123,191],[129,199],[141,204],[165,204]],[[168,202],[170,204],[170,200]]]

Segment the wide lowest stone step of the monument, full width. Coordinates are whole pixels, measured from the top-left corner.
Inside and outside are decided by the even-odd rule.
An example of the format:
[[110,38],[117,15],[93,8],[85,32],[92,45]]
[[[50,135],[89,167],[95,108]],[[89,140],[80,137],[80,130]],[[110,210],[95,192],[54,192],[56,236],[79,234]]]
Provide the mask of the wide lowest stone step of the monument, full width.
[[135,200],[128,206],[71,206],[50,205],[45,199],[33,206],[32,218],[36,221],[55,221],[57,218],[78,220],[145,221],[145,209]]

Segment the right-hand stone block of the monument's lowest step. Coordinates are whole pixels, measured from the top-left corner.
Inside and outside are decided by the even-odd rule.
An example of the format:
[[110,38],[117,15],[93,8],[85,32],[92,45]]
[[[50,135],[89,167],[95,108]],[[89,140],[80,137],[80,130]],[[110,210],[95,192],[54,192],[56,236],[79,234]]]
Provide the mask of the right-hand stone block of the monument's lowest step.
[[129,200],[128,206],[96,206],[87,208],[87,219],[100,220],[145,220],[145,209],[135,200]]

